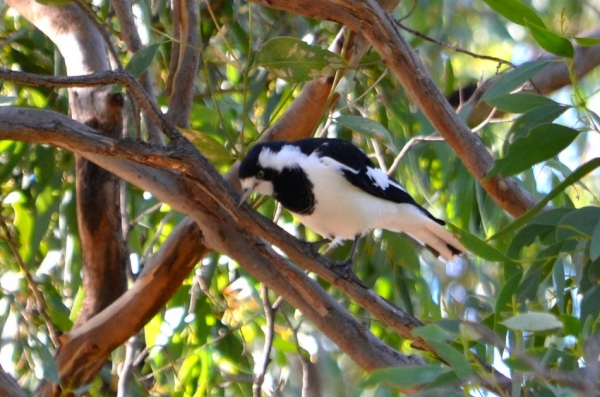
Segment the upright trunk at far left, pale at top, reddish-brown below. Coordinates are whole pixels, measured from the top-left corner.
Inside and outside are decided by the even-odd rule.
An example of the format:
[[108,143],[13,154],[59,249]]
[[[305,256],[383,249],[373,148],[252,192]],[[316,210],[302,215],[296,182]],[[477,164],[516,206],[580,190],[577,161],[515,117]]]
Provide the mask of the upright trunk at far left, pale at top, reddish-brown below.
[[[69,75],[109,69],[102,34],[79,6],[46,6],[30,0],[7,2],[35,24],[62,53]],[[71,116],[102,134],[122,134],[123,98],[109,87],[69,89]],[[121,229],[119,179],[85,158],[76,159],[78,225],[85,297],[75,327],[110,305],[127,288],[127,248]],[[104,359],[108,356],[105,355]],[[94,373],[101,362],[88,363]],[[89,381],[91,377],[85,379]],[[70,380],[69,380],[70,383]],[[39,395],[58,395],[61,387],[42,383]]]

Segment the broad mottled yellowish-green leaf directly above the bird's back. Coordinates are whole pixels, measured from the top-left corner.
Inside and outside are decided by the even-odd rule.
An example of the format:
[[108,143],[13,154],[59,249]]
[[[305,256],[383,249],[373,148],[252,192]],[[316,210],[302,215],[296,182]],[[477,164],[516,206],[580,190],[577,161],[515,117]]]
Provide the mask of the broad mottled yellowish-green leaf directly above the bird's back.
[[348,65],[344,58],[320,46],[293,37],[277,37],[256,53],[253,67],[258,66],[281,79],[299,83],[331,76]]

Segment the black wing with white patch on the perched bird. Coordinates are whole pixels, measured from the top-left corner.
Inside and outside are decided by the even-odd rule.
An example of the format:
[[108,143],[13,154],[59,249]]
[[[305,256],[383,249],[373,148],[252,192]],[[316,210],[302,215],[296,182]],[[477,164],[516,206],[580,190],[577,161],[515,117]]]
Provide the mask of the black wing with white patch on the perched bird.
[[341,139],[309,138],[297,141],[296,144],[306,154],[310,154],[316,150],[319,157],[329,157],[343,164],[345,167],[342,169],[344,177],[348,182],[365,192],[384,200],[393,201],[394,203],[415,205],[431,220],[440,225],[445,225],[444,221],[437,219],[429,211],[417,204],[394,178],[386,175],[387,185],[382,184],[382,186],[378,184],[377,180],[371,176],[378,167],[362,150],[350,142]]

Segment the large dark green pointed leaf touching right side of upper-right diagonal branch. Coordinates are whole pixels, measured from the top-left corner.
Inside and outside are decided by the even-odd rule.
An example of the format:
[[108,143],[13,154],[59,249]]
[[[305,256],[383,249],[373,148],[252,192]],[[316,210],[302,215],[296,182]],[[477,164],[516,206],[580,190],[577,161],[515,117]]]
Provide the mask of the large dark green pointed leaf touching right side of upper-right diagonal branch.
[[523,172],[535,164],[559,154],[579,135],[579,131],[560,124],[542,124],[517,138],[506,156],[496,160],[484,180],[500,174],[503,177]]

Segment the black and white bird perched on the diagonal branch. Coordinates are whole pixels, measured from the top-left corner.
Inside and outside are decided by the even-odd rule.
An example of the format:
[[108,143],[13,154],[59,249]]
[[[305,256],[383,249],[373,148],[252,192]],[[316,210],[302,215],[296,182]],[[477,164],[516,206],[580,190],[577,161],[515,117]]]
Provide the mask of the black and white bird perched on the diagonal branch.
[[239,177],[240,204],[253,192],[273,196],[333,245],[381,228],[406,233],[445,260],[465,251],[443,220],[341,139],[258,143],[240,164]]

